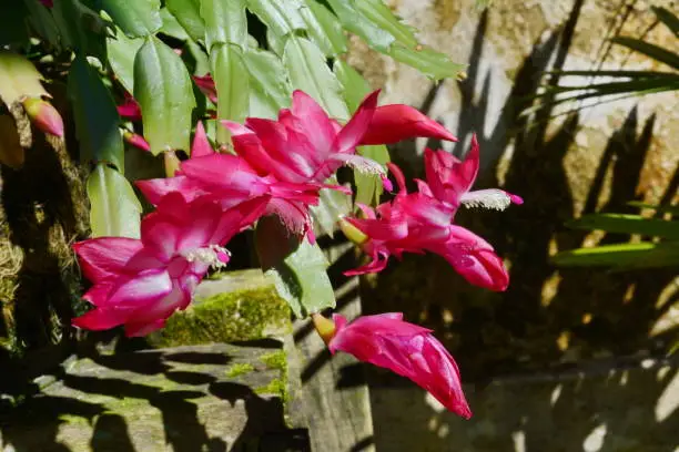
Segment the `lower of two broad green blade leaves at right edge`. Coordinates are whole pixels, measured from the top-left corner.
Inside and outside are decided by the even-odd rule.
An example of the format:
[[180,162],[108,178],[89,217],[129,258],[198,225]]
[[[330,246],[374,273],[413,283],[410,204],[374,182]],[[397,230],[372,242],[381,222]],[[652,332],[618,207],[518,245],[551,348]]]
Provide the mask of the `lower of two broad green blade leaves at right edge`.
[[558,253],[553,263],[561,267],[660,268],[679,265],[679,243],[604,245]]

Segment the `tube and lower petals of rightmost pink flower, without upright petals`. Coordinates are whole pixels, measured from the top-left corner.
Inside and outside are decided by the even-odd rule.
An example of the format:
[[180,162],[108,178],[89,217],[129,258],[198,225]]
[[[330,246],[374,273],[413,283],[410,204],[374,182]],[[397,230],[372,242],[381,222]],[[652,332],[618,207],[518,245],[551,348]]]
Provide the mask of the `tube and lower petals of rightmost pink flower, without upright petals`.
[[368,264],[345,275],[382,271],[392,255],[401,258],[404,253],[430,251],[443,256],[470,284],[505,290],[509,275],[493,246],[452,224],[455,207],[422,192],[408,194],[401,170],[392,164],[389,170],[399,187],[395,199],[375,209],[362,206],[365,218],[347,217],[341,223],[345,230],[347,224],[358,229],[358,244],[371,256]]

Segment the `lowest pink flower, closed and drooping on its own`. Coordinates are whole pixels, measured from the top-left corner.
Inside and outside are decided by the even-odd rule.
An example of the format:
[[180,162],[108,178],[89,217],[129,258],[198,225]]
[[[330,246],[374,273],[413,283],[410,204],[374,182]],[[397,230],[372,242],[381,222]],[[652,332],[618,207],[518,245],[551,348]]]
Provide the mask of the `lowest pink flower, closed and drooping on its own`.
[[459,369],[432,330],[403,321],[401,312],[364,316],[348,325],[335,314],[334,326],[318,314],[312,317],[332,353],[341,350],[409,378],[452,412],[472,417]]

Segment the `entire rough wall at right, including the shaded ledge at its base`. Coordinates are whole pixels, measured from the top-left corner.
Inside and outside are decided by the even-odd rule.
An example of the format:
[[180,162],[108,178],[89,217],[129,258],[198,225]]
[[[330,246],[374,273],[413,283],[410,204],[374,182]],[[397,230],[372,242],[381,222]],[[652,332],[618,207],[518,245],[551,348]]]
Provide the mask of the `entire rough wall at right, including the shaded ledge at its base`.
[[[677,2],[495,0],[486,14],[473,0],[391,3],[422,31],[424,43],[468,63],[468,78],[435,86],[357,40],[349,61],[375,88],[385,86],[383,102],[419,106],[456,133],[460,143],[443,146],[457,155],[464,155],[473,132],[479,134],[478,186],[504,186],[526,204],[505,213],[458,214],[507,259],[511,282],[504,294],[469,287],[435,256],[406,256],[364,280],[364,310],[403,310],[444,340],[469,383],[465,390],[475,411],[472,422],[444,415],[425,402],[424,391],[375,372],[377,450],[675,450],[676,361],[662,374],[621,366],[661,355],[677,337],[677,269],[557,269],[549,257],[627,239],[566,228],[575,216],[635,213],[629,201],[677,202],[679,93],[605,103],[550,122],[544,120],[566,109],[519,113],[546,79],[545,69],[668,71],[609,48],[606,39],[617,30],[635,38],[646,33],[679,51],[679,40],[665,27],[649,30],[650,6],[676,11]],[[440,143],[394,150],[407,175],[422,174],[425,145]],[[566,369],[574,369],[577,381],[560,380]],[[524,377],[507,377],[517,373]]]

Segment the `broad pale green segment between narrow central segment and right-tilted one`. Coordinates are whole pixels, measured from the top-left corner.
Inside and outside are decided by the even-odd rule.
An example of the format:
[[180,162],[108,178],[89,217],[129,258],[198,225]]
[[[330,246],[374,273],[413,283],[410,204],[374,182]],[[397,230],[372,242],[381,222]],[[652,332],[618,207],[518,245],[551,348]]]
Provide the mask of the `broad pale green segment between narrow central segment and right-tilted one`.
[[[255,99],[264,102],[267,111],[273,110],[273,117],[277,115],[278,110],[290,107],[292,88],[287,81],[287,72],[278,56],[267,51],[249,50],[244,54],[244,61],[250,73],[251,90],[256,93]],[[260,116],[255,114],[255,111],[251,111],[250,114],[256,117],[272,117]]]

